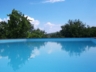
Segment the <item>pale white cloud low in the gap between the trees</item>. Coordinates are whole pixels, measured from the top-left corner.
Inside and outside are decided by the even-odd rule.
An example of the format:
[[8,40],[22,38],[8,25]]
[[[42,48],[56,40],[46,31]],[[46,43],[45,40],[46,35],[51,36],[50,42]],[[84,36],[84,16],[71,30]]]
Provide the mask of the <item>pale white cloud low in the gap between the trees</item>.
[[57,32],[57,31],[61,30],[61,25],[56,25],[56,24],[53,24],[51,22],[47,22],[44,25],[44,30],[47,33]]

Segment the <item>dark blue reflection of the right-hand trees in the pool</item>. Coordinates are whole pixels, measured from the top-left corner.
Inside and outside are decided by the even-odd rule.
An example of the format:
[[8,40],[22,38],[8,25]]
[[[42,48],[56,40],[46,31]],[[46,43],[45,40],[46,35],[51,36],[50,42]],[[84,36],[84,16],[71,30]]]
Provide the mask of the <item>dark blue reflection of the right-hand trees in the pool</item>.
[[70,56],[78,55],[84,51],[87,51],[91,47],[96,47],[96,44],[90,41],[70,41],[70,42],[58,42],[62,46],[62,50],[69,52]]

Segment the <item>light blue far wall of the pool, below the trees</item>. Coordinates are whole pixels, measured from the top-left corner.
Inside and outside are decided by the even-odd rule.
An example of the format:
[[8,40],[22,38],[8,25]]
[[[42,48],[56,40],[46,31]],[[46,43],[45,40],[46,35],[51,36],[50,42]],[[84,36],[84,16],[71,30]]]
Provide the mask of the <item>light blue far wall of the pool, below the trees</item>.
[[2,39],[0,40],[0,43],[25,42],[25,41],[92,41],[96,44],[96,38]]

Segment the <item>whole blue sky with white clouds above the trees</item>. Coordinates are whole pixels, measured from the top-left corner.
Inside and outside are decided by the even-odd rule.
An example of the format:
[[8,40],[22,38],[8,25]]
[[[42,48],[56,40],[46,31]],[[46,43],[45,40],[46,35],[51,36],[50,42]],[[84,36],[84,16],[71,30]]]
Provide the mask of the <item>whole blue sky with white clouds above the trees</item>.
[[80,19],[96,26],[96,0],[0,0],[0,21],[16,9],[33,20],[35,28],[52,33],[61,30],[69,19]]

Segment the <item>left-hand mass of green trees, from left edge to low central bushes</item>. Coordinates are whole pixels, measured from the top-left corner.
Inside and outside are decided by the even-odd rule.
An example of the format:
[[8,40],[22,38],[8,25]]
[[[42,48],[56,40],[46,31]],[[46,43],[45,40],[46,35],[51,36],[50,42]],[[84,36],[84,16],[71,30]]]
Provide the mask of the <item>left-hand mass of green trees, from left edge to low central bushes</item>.
[[42,38],[45,32],[34,29],[27,17],[21,12],[13,9],[8,14],[8,22],[0,22],[0,38]]

